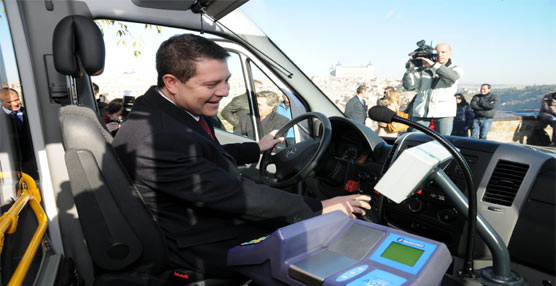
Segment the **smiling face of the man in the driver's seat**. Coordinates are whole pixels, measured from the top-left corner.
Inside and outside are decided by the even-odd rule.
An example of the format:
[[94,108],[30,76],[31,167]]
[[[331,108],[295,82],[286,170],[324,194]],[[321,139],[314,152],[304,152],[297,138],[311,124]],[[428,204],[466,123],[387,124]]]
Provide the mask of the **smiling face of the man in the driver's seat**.
[[178,106],[194,115],[215,116],[220,100],[229,94],[229,78],[226,61],[201,59],[197,62],[197,73],[187,82],[177,80],[166,84],[166,88]]

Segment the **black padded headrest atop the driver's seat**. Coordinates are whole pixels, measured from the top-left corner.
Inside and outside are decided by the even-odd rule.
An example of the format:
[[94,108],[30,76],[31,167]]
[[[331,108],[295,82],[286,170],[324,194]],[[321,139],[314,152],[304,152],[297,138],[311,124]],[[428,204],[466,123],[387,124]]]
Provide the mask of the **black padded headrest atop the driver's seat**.
[[52,39],[54,66],[58,72],[75,78],[83,72],[99,75],[104,69],[104,40],[92,19],[72,15],[63,18],[54,29]]

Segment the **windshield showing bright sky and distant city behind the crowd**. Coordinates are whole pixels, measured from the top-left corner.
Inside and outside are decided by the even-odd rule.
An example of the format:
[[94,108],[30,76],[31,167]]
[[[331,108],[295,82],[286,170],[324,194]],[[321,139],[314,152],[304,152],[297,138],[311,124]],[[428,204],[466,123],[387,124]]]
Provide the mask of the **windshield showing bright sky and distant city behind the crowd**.
[[[241,10],[342,111],[361,84],[370,88],[371,105],[391,86],[406,109],[415,92],[404,89],[402,77],[421,40],[432,49],[451,46],[452,62],[465,71],[457,92],[466,102],[482,84],[492,86],[499,101],[491,132],[520,117],[507,134],[489,139],[535,144],[530,134],[516,139],[513,133],[525,129],[523,122],[539,115],[543,96],[556,91],[555,1],[266,0]],[[543,129],[536,121],[530,125]]]

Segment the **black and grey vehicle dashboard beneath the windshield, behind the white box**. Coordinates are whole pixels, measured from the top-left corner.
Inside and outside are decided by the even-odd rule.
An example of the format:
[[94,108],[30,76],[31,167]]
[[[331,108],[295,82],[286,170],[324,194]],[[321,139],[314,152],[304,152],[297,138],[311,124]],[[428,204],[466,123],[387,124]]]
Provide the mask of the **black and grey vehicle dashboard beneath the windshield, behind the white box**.
[[[434,181],[426,180],[400,204],[374,190],[404,150],[431,139],[422,133],[405,133],[386,142],[354,121],[331,118],[331,123],[333,137],[317,173],[320,195],[368,194],[373,209],[362,219],[444,242],[453,256],[464,257],[466,216]],[[556,153],[519,144],[446,138],[471,168],[477,209],[506,243],[512,261],[554,275]],[[459,166],[451,162],[444,172],[467,196]],[[404,174],[399,176],[402,180]],[[481,239],[474,253],[475,259],[491,259]]]

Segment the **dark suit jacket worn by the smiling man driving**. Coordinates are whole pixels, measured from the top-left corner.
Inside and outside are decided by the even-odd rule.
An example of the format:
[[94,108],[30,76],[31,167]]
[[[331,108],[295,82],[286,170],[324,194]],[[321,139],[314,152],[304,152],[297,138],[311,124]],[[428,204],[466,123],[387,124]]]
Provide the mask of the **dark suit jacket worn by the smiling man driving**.
[[113,146],[181,267],[223,274],[228,248],[271,232],[260,221],[322,211],[318,200],[243,178],[236,163],[256,162],[258,145],[220,145],[155,87],[137,98]]

